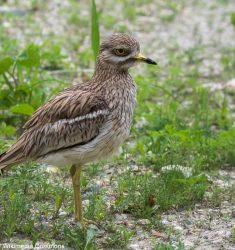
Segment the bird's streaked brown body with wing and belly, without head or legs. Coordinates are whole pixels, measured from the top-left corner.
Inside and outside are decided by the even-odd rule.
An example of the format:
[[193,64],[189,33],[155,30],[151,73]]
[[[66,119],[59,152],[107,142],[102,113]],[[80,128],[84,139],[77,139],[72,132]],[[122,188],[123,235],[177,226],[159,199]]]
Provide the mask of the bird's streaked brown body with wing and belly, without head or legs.
[[127,70],[104,70],[98,77],[62,91],[40,107],[2,162],[84,165],[117,151],[129,135],[135,83]]

